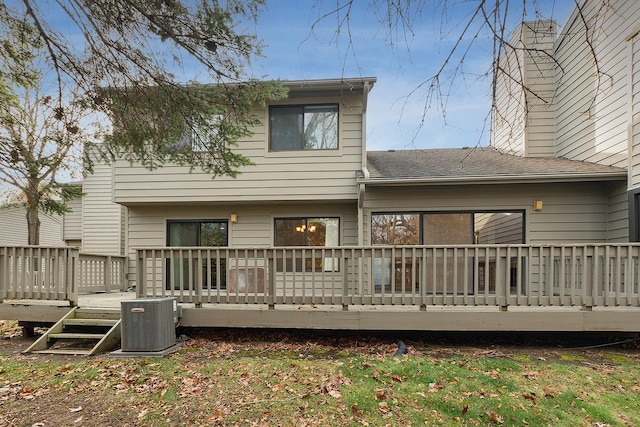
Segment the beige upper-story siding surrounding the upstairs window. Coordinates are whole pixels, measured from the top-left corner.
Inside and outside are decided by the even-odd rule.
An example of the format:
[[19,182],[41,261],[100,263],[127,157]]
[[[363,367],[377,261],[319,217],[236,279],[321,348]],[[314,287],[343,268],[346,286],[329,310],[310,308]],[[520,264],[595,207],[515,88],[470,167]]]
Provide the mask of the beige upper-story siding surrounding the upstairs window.
[[[356,174],[361,170],[361,94],[292,98],[290,104],[339,103],[339,148],[270,152],[267,126],[239,141],[235,151],[255,165],[243,167],[234,178],[215,177],[187,167],[168,165],[154,171],[116,162],[115,201],[144,203],[270,202],[273,200],[355,200]],[[284,104],[284,103],[280,103]],[[268,109],[257,111],[268,123]]]

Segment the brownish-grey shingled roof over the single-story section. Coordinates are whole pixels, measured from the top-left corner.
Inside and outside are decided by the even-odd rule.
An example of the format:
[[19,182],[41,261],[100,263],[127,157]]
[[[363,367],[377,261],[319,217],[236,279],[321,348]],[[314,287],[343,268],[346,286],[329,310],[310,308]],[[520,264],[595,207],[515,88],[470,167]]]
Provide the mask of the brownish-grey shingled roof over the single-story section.
[[624,180],[622,168],[558,158],[520,157],[494,148],[389,150],[367,153],[365,183]]

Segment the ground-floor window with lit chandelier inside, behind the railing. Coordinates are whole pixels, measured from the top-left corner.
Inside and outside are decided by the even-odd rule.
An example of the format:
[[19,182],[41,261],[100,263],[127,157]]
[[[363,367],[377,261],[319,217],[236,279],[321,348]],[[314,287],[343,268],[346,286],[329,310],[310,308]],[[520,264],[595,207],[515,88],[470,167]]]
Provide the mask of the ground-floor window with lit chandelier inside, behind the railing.
[[[276,218],[275,246],[339,246],[339,218]],[[304,265],[303,265],[304,264]],[[300,255],[295,260],[287,257],[276,262],[278,271],[337,271],[337,260],[322,256]]]

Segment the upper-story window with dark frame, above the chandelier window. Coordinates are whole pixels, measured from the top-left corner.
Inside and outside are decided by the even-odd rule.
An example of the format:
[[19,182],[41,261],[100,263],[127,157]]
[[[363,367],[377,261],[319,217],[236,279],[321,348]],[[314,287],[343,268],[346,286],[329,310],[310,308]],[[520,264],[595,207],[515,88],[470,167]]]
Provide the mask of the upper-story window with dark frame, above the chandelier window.
[[269,108],[269,149],[335,150],[338,105],[283,105]]

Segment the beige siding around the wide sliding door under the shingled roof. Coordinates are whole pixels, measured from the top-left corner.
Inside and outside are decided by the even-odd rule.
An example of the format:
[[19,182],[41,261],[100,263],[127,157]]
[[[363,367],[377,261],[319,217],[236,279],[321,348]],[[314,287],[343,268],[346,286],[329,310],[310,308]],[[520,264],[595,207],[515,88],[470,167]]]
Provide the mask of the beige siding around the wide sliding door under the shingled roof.
[[[365,244],[372,212],[525,210],[525,243],[607,241],[606,183],[368,188],[364,205]],[[533,201],[543,209],[534,212]]]

